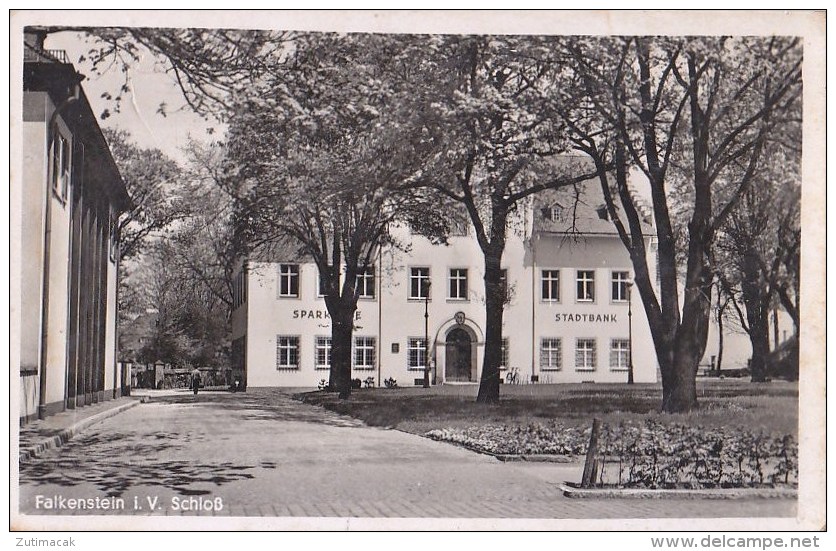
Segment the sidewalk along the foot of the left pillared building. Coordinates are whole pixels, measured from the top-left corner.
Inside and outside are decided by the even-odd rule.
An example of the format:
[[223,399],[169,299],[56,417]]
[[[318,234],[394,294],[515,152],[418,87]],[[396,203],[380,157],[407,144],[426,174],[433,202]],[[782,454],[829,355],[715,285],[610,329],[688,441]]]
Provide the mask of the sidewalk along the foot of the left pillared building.
[[20,427],[18,443],[23,463],[46,450],[57,448],[90,425],[138,405],[139,396],[120,397],[77,409],[68,409]]

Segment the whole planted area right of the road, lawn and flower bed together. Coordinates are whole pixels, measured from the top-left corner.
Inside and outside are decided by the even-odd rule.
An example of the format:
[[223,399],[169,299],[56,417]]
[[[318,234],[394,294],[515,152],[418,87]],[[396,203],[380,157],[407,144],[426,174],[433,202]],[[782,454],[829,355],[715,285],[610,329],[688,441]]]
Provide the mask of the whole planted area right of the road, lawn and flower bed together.
[[361,389],[348,400],[297,398],[369,425],[394,427],[499,456],[580,461],[602,421],[592,483],[619,488],[795,487],[798,385],[700,380],[700,407],[659,412],[659,385],[503,386],[477,404],[476,386]]

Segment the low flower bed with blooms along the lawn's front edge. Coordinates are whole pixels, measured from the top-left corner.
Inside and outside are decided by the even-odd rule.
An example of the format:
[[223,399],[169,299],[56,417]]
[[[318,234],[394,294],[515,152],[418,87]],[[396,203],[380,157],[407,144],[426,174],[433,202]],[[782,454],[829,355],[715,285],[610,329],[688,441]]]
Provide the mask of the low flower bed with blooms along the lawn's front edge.
[[[425,436],[492,454],[581,456],[590,428],[559,423],[436,429]],[[595,485],[617,488],[794,487],[798,444],[790,435],[684,424],[605,425]]]

